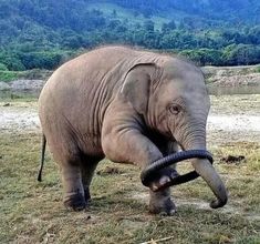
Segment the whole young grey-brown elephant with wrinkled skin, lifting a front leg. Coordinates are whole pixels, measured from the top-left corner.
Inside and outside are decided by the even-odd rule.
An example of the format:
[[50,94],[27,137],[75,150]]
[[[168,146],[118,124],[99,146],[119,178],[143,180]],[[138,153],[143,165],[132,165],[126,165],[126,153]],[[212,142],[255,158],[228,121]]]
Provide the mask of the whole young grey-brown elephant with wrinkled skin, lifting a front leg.
[[[164,155],[206,149],[209,96],[201,71],[176,58],[107,47],[91,51],[58,69],[40,99],[42,130],[64,186],[64,204],[82,210],[90,199],[94,170],[103,157],[141,169]],[[226,189],[207,160],[193,166],[218,201]],[[149,211],[173,214],[169,189],[176,171],[158,172],[150,183]]]

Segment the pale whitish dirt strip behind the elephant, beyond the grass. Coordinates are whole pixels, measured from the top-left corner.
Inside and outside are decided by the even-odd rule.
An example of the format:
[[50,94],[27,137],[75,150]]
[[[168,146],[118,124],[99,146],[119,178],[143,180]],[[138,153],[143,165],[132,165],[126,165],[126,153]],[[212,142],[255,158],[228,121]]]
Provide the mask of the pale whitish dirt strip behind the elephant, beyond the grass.
[[[208,140],[260,141],[260,95],[211,95],[208,118]],[[0,102],[0,132],[41,131],[37,101]]]

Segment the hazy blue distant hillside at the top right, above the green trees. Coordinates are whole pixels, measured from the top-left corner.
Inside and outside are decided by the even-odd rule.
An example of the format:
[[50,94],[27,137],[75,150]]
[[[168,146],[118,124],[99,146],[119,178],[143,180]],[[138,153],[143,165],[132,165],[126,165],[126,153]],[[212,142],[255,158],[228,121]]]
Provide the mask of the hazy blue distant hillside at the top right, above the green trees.
[[[95,4],[96,1],[91,1]],[[166,19],[181,20],[184,17],[205,19],[211,22],[236,24],[239,21],[259,23],[260,2],[258,0],[104,0],[102,4],[114,3],[146,17],[164,16]],[[98,3],[97,3],[98,4]]]

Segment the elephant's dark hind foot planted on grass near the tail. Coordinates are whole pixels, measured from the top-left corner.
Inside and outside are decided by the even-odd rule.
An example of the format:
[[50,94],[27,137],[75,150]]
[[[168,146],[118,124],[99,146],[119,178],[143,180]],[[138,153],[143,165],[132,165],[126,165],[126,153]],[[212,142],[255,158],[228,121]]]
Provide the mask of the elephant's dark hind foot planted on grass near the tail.
[[87,206],[87,201],[85,200],[84,195],[80,191],[74,192],[74,193],[67,193],[64,196],[63,203],[66,209],[73,210],[73,211],[82,211],[86,209]]

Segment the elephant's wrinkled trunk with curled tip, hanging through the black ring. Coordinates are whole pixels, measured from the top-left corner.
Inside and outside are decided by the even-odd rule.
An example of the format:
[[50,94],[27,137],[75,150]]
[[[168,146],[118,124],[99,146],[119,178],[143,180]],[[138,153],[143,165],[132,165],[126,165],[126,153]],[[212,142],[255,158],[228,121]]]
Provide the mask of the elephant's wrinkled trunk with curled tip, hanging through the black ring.
[[[201,143],[191,143],[185,150],[206,150],[206,141]],[[195,171],[207,182],[214,194],[217,196],[216,201],[210,203],[210,207],[217,209],[223,206],[228,201],[227,190],[220,176],[208,160],[195,159],[191,161]]]

